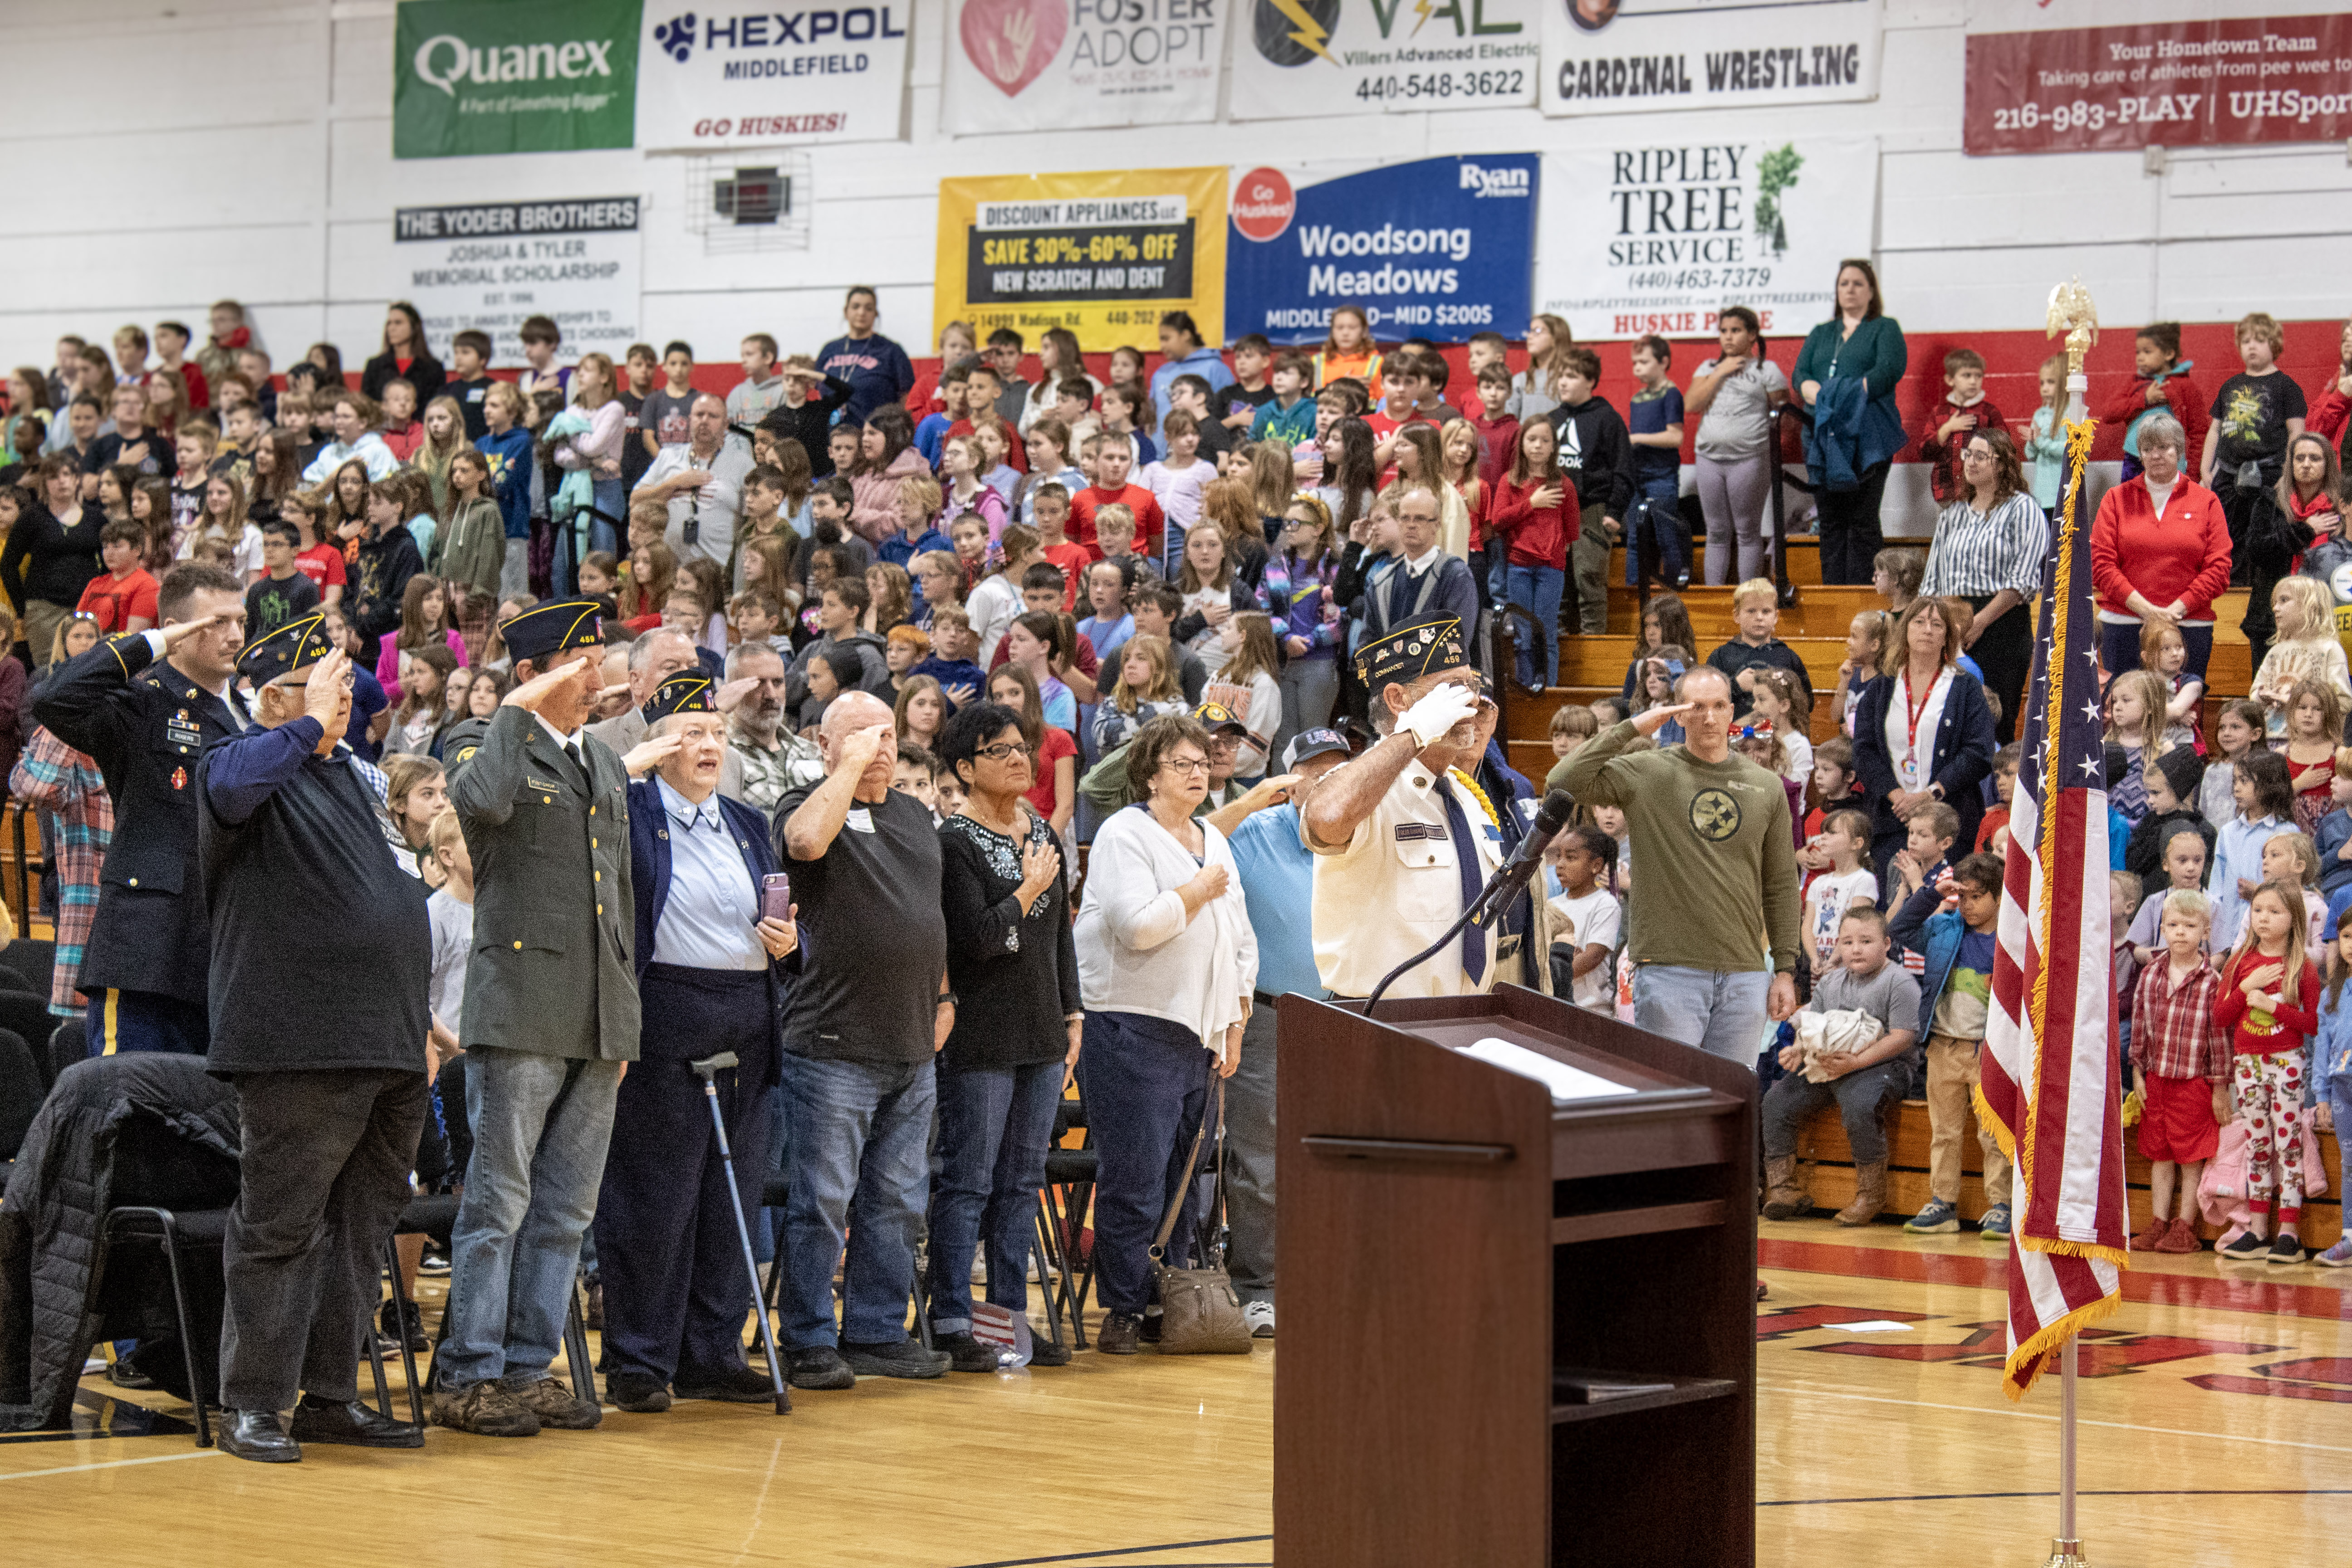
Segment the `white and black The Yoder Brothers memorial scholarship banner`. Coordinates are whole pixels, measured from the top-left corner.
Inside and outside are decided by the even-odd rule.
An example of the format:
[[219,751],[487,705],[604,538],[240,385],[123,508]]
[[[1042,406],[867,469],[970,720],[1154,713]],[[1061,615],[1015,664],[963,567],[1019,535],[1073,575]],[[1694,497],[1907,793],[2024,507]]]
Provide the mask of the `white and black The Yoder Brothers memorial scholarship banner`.
[[564,357],[602,350],[616,362],[637,331],[644,247],[637,197],[576,202],[470,202],[393,214],[397,289],[447,343],[468,327],[489,334],[492,364],[522,364],[515,331],[550,315]]

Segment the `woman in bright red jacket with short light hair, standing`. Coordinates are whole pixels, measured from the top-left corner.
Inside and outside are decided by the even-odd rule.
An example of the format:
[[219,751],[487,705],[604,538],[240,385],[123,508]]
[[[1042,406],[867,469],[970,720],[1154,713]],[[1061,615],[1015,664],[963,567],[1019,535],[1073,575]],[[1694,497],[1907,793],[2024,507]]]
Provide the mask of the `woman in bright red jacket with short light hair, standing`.
[[2180,628],[2185,672],[2197,679],[2213,658],[2213,599],[2230,585],[2230,524],[2213,491],[2180,470],[2185,451],[2178,418],[2147,418],[2140,477],[2124,480],[2098,503],[2091,583],[2107,675],[2140,668],[2143,625]]

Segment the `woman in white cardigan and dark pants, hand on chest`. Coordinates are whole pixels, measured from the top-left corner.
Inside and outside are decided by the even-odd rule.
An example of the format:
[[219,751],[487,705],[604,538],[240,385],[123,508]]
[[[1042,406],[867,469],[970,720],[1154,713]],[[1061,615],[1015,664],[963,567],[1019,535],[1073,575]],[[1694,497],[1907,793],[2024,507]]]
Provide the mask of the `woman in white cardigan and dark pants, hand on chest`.
[[1242,1060],[1258,983],[1258,938],[1232,851],[1192,816],[1209,795],[1209,731],[1188,715],[1152,719],[1127,748],[1127,780],[1141,799],[1096,835],[1075,931],[1087,1004],[1077,1084],[1101,1159],[1096,1349],[1112,1356],[1136,1354],[1157,1312],[1150,1246],[1178,1190],[1185,1211],[1167,1260],[1190,1260],[1197,1187],[1185,1157],[1209,1114],[1211,1074],[1232,1077]]

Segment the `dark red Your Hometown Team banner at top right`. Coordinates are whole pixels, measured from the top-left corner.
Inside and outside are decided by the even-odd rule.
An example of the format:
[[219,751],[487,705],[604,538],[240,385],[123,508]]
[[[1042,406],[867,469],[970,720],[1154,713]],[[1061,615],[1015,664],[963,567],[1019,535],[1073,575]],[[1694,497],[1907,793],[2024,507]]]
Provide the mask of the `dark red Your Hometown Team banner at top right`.
[[1971,33],[1969,153],[2345,141],[2352,16]]

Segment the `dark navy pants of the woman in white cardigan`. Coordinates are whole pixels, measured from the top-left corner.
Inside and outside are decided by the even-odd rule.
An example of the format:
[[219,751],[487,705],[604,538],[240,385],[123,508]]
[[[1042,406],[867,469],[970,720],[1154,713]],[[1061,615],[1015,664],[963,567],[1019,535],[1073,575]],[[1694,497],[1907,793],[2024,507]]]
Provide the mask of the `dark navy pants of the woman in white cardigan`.
[[[1185,1157],[1209,1110],[1211,1058],[1181,1023],[1143,1013],[1087,1013],[1077,1086],[1098,1152],[1094,1279],[1108,1312],[1141,1316],[1152,1305],[1152,1237],[1169,1199],[1185,1192],[1167,1258],[1192,1258],[1200,1182]],[[1216,1135],[1216,1128],[1209,1128]]]

